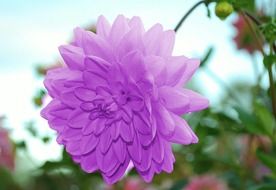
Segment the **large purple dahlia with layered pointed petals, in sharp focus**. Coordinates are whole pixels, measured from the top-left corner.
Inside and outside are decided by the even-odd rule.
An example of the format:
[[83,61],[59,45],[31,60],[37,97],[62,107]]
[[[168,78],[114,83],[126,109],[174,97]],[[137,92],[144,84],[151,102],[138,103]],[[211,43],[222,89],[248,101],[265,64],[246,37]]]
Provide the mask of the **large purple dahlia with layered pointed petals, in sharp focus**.
[[52,101],[41,114],[84,171],[112,184],[133,165],[150,182],[172,172],[172,143],[198,141],[181,115],[208,100],[183,88],[199,61],[172,56],[174,37],[160,24],[145,31],[138,17],[101,16],[97,34],[76,28],[59,48],[66,66],[47,72]]

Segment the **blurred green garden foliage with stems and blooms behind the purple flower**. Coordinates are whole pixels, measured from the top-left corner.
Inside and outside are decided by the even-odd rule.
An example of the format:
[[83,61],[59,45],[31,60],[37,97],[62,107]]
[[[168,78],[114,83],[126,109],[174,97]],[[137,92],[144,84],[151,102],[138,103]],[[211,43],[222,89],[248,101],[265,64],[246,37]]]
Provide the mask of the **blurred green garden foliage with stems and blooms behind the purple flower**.
[[[210,10],[209,4],[213,3],[216,4],[215,10]],[[151,184],[146,184],[135,171],[130,171],[121,182],[107,186],[98,173],[84,173],[64,150],[60,160],[36,165],[28,157],[30,150],[26,142],[12,142],[9,138],[9,131],[5,129],[5,120],[9,118],[1,118],[0,190],[275,190],[276,2],[270,0],[266,3],[268,5],[263,7],[271,6],[271,10],[257,7],[254,0],[205,0],[196,5],[205,4],[206,16],[210,17],[210,12],[215,12],[222,20],[237,14],[232,25],[236,30],[232,43],[251,57],[256,53],[262,54],[263,63],[252,63],[254,84],[237,80],[227,85],[208,68],[215,47],[206,50],[200,70],[218,83],[225,96],[205,111],[184,116],[200,141],[185,147],[174,145],[176,163],[172,174],[162,173],[155,176]],[[88,30],[96,32],[93,24]],[[262,71],[257,70],[254,64],[263,64]],[[57,61],[47,66],[38,65],[35,71],[38,77],[43,78],[47,70],[60,66],[62,63]],[[267,80],[269,87],[261,85],[263,80]],[[202,84],[189,85],[199,91],[203,89]],[[41,108],[47,98],[45,89],[37,89],[32,101],[34,106]],[[35,121],[25,126],[30,135],[45,144],[54,140],[51,135],[40,134],[37,128]],[[21,158],[22,154],[25,160],[20,160],[15,166],[15,157]],[[15,168],[24,166],[31,169],[26,173],[17,173]]]

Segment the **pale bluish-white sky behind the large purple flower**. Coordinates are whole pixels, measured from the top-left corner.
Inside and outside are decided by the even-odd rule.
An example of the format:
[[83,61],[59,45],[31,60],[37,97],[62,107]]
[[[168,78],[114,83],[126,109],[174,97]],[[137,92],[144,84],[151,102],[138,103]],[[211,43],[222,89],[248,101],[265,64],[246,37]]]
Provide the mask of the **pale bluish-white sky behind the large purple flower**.
[[[184,13],[197,0],[0,0],[0,114],[7,117],[7,125],[16,140],[29,138],[32,156],[37,160],[55,159],[60,147],[52,142],[44,146],[29,137],[24,125],[35,119],[41,134],[54,134],[39,116],[31,99],[42,87],[42,79],[34,72],[37,64],[51,64],[60,59],[57,47],[67,43],[72,30],[86,27],[104,15],[112,22],[118,14],[139,16],[145,27],[161,23],[173,29]],[[211,10],[214,6],[211,6]],[[250,57],[237,51],[232,38],[235,30],[231,23],[236,16],[221,21],[212,14],[207,18],[202,5],[195,10],[176,35],[175,55],[201,58],[208,47],[214,46],[208,68],[225,83],[253,81]],[[260,62],[260,56],[255,56]],[[199,90],[218,103],[224,91],[203,71],[194,76]],[[41,150],[43,147],[43,151]]]

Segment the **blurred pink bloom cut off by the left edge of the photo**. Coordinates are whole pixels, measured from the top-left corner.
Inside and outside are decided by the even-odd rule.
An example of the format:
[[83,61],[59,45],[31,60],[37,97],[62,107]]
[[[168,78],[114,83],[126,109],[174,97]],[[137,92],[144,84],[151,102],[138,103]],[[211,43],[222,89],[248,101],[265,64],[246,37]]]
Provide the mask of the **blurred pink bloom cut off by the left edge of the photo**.
[[0,126],[0,167],[6,167],[10,170],[14,169],[14,149],[13,148],[14,147],[9,138],[8,131]]

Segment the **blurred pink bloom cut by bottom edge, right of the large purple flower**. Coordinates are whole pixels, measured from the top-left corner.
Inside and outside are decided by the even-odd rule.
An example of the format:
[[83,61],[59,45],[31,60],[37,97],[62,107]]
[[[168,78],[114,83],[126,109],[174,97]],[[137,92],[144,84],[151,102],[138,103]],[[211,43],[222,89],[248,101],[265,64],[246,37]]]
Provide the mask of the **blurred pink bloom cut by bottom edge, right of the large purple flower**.
[[203,175],[195,177],[184,190],[227,190],[226,184],[215,176]]

